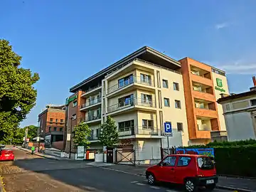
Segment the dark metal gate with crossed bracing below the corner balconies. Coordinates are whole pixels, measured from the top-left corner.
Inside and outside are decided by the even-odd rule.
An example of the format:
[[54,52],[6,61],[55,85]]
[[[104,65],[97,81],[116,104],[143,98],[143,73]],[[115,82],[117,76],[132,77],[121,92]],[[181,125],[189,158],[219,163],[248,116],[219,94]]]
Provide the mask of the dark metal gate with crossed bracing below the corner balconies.
[[115,163],[135,166],[136,156],[134,149],[117,148],[115,150]]

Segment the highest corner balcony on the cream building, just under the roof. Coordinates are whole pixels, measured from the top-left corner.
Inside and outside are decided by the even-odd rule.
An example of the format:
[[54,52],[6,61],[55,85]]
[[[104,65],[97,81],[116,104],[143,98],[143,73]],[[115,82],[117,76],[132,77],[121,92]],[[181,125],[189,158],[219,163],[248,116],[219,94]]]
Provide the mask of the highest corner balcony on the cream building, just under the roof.
[[154,90],[154,81],[146,80],[141,77],[132,76],[131,78],[124,80],[124,82],[119,82],[112,87],[107,89],[107,97],[116,95],[117,92],[122,90],[132,90],[132,85],[140,87],[142,90]]

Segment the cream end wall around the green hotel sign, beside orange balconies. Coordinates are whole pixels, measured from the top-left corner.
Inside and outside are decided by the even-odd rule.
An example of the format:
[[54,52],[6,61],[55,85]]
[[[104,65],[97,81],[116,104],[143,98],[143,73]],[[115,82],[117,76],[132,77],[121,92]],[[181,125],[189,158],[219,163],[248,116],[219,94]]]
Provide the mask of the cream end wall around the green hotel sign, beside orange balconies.
[[[220,90],[216,90],[215,89],[215,86],[217,86],[217,81],[216,79],[219,78],[222,80],[222,83],[223,83],[223,90],[225,90],[225,92],[220,92]],[[213,90],[215,91],[215,98],[216,98],[216,101],[221,97],[220,94],[221,93],[224,93],[224,94],[227,94],[229,95],[229,90],[228,90],[228,80],[225,76],[223,75],[219,75],[217,73],[213,73]],[[225,118],[224,118],[224,115],[223,115],[223,107],[222,105],[220,104],[217,104],[217,110],[218,110],[218,117],[219,117],[219,120],[220,120],[220,131],[226,131],[226,126],[225,126]]]

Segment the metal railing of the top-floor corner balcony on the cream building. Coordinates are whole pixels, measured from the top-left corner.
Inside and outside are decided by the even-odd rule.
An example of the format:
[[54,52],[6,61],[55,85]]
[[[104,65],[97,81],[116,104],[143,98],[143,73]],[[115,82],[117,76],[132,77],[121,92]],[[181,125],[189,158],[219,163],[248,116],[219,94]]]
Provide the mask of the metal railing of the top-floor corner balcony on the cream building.
[[141,77],[132,76],[132,78],[129,78],[128,80],[124,80],[122,83],[117,83],[116,85],[113,85],[112,87],[109,87],[107,89],[107,94],[110,94],[116,90],[122,89],[123,87],[127,87],[128,85],[132,85],[134,82],[137,82],[142,85],[147,85],[154,87],[154,81],[149,79],[144,79]]

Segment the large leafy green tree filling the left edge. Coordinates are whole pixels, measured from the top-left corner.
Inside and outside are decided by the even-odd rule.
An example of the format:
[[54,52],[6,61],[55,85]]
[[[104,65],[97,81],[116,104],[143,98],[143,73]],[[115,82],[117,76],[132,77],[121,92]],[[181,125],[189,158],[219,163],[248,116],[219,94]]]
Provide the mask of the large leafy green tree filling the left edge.
[[0,39],[0,141],[14,138],[18,124],[36,105],[38,73],[20,68],[21,56]]

